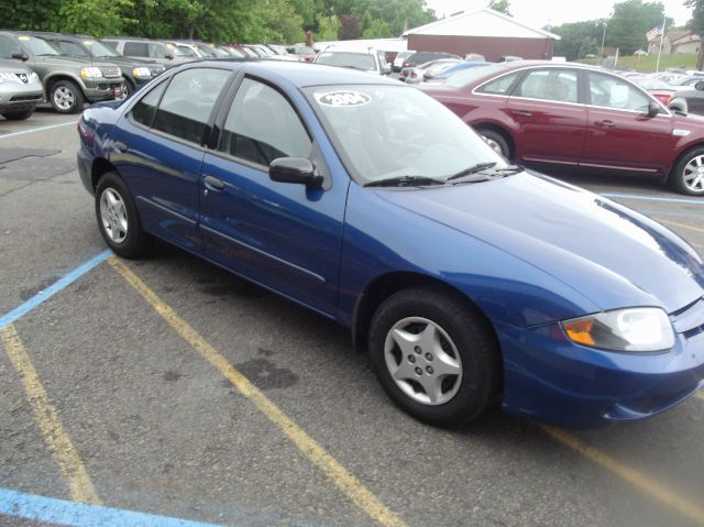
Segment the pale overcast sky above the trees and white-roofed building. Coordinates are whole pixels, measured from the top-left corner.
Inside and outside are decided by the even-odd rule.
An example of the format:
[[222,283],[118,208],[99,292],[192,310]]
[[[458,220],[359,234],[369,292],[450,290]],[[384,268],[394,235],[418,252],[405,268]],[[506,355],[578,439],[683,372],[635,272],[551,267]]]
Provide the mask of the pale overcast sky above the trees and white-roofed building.
[[[690,10],[682,6],[684,0],[663,0],[664,11],[675,24],[684,25],[690,19]],[[512,14],[529,25],[542,28],[547,24],[560,25],[565,22],[607,19],[614,0],[510,0]],[[426,0],[439,18],[458,11],[475,11],[485,8],[488,0]]]

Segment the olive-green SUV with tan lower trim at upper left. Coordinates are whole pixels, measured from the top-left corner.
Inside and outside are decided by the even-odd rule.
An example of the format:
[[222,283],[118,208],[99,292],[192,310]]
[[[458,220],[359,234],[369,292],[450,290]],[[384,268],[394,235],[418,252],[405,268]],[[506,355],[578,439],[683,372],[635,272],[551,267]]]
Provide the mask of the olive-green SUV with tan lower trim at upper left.
[[78,113],[86,101],[121,98],[124,90],[118,65],[62,56],[46,41],[25,33],[0,31],[0,58],[38,75],[46,99],[59,113]]

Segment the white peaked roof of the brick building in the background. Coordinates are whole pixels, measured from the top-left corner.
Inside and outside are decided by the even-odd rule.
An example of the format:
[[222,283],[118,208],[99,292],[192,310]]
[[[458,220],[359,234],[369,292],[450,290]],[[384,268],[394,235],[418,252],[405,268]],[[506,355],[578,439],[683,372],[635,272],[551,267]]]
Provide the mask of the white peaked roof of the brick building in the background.
[[452,35],[452,36],[496,36],[504,39],[553,39],[560,36],[549,31],[532,28],[513,17],[494,11],[480,9],[479,11],[460,12],[429,24],[408,30],[408,35]]

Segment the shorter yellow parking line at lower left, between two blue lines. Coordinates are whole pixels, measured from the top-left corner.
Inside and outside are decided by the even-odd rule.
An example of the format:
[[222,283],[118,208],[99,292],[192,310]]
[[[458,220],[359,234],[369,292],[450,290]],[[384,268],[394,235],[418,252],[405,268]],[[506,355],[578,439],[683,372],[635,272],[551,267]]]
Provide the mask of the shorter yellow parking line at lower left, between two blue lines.
[[34,365],[22,345],[22,340],[15,331],[14,325],[0,328],[0,340],[2,340],[10,362],[20,374],[26,398],[34,410],[34,418],[42,430],[54,461],[68,482],[72,498],[75,502],[100,505],[101,501],[92,486],[86,466],[59,421],[56,409],[50,403],[48,395],[46,395]]

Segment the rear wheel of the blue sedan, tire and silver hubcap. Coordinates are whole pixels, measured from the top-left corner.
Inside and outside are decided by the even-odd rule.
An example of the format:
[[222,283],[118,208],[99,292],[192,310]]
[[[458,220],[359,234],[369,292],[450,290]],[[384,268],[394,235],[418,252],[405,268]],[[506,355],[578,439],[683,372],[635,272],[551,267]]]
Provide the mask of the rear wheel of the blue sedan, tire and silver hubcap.
[[116,254],[135,259],[146,253],[153,238],[142,229],[132,195],[116,173],[109,172],[98,182],[96,218],[102,238]]

